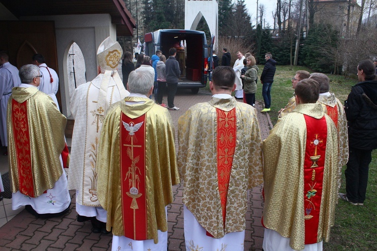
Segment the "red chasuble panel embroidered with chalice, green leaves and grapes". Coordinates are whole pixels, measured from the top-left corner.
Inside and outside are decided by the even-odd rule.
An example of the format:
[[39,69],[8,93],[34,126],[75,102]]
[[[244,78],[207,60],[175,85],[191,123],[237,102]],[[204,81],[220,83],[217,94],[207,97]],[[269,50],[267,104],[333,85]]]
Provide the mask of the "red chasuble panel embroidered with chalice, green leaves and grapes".
[[305,244],[313,244],[317,243],[318,236],[327,124],[325,117],[320,119],[308,115],[304,117],[307,130],[304,161]]

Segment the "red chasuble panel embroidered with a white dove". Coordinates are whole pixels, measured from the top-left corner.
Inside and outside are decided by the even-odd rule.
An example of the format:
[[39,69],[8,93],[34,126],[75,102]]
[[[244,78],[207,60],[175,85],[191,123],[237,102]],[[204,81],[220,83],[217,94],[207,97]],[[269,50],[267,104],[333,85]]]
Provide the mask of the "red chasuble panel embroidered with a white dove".
[[121,189],[124,236],[147,239],[145,188],[145,114],[120,121]]

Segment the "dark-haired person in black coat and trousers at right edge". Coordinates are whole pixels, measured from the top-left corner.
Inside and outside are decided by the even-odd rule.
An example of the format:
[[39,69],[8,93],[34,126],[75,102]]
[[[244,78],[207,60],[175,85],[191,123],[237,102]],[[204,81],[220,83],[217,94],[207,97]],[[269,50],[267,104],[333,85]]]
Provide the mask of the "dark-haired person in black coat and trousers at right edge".
[[346,193],[339,197],[353,205],[364,205],[369,163],[377,149],[377,79],[370,60],[357,66],[360,82],[352,86],[345,101],[348,121],[349,159],[345,170]]

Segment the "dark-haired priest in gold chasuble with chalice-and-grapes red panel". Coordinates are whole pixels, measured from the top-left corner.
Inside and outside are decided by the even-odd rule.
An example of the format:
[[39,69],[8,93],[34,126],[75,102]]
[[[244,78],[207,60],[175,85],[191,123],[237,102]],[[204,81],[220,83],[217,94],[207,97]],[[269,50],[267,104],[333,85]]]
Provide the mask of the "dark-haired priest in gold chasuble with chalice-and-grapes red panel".
[[325,114],[319,83],[301,80],[296,108],[263,141],[263,249],[322,250],[338,196],[337,130]]

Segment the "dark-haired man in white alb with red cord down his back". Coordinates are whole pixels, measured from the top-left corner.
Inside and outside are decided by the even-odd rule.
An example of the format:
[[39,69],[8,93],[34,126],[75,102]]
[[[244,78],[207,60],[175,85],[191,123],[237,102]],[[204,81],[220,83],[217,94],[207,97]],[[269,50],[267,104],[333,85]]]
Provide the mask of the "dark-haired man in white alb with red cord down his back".
[[56,99],[56,93],[59,89],[59,77],[56,71],[46,65],[46,60],[42,54],[34,54],[33,64],[39,67],[41,73],[41,84],[39,90],[49,95],[54,100],[59,110],[58,100]]

